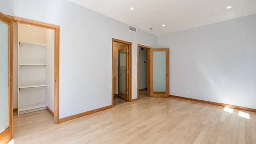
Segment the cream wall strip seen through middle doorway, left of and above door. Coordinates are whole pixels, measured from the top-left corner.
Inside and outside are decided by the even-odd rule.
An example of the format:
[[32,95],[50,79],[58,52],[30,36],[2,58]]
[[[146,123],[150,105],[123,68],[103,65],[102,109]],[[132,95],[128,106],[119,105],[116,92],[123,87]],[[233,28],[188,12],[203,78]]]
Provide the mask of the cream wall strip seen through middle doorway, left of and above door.
[[114,53],[114,77],[116,77],[116,93],[118,94],[118,48],[125,46],[119,42],[113,42],[113,53]]

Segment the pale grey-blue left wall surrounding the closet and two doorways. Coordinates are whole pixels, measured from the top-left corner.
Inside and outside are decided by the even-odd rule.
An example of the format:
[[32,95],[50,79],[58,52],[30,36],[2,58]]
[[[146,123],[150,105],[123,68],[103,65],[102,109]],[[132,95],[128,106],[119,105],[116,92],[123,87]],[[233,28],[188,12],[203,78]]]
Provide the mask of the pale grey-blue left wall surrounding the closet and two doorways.
[[[60,26],[59,118],[111,105],[112,38],[132,42],[133,67],[137,44],[157,47],[156,35],[134,33],[128,24],[67,0],[1,0],[0,11]],[[137,70],[132,98],[137,98]]]

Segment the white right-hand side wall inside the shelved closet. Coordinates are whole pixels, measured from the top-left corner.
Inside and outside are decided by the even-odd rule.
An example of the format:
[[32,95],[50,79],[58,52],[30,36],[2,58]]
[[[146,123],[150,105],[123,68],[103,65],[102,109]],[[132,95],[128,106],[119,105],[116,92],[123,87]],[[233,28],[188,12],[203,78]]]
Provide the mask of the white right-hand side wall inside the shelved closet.
[[45,52],[45,83],[48,87],[45,89],[45,103],[49,109],[54,111],[54,30],[45,29],[45,41],[47,44]]

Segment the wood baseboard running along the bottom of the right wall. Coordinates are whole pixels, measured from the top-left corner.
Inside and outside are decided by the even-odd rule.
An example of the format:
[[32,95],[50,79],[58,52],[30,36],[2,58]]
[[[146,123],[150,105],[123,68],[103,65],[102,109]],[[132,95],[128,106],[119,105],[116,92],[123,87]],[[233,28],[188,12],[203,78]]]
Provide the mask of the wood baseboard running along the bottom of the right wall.
[[169,95],[169,97],[180,98],[180,99],[190,100],[190,101],[194,101],[194,102],[208,103],[208,104],[211,104],[211,105],[218,105],[218,106],[222,106],[222,107],[229,107],[229,108],[232,108],[232,109],[240,109],[240,110],[244,110],[244,111],[256,112],[256,109],[251,109],[251,108],[248,108],[248,107],[239,107],[239,106],[236,106],[236,105],[228,105],[228,104],[224,104],[224,103],[210,102],[210,101],[205,101],[205,100],[186,98],[186,97],[182,97],[182,96]]

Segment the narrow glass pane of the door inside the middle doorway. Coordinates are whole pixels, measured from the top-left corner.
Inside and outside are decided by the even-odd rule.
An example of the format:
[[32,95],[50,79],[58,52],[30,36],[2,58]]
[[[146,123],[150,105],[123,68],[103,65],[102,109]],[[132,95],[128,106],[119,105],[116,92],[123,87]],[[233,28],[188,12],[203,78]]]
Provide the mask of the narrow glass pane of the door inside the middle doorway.
[[125,49],[124,50],[120,50],[120,92],[122,94],[125,94],[125,75],[126,75],[126,72],[125,72],[125,67],[126,67],[126,52],[125,52]]

